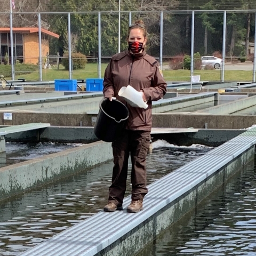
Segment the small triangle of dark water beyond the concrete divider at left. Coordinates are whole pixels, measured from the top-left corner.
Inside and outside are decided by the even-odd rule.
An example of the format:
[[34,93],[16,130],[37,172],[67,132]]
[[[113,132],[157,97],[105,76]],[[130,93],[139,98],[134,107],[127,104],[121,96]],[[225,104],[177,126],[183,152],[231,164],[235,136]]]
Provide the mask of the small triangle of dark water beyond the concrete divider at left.
[[77,146],[79,144],[6,142],[6,152],[0,153],[0,168]]

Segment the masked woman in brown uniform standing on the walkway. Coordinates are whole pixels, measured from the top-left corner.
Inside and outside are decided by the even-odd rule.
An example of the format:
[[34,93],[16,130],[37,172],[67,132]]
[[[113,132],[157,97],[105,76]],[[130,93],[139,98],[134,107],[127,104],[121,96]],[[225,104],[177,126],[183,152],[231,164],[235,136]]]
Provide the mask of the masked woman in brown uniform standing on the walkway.
[[[108,204],[104,207],[104,211],[107,212],[123,210],[129,155],[132,162],[132,202],[127,207],[127,212],[142,210],[143,197],[148,193],[146,156],[152,125],[151,101],[163,98],[166,92],[166,83],[159,71],[157,61],[145,51],[147,30],[143,21],[137,20],[129,26],[127,42],[128,50],[117,53],[111,58],[103,81],[104,98],[111,101],[112,97],[116,97],[129,109],[125,129],[112,143],[114,168]],[[121,87],[127,85],[143,92],[142,97],[147,101],[147,109],[132,107],[118,96]]]

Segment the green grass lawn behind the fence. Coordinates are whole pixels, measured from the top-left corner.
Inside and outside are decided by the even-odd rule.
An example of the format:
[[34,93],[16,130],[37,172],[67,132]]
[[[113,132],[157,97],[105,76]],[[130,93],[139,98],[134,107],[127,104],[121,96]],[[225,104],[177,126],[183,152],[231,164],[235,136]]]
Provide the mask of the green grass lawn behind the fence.
[[[103,78],[107,63],[101,64],[101,77]],[[10,67],[11,68],[11,67]],[[26,70],[25,70],[26,71]],[[163,75],[166,81],[190,81],[190,70],[163,70]],[[221,81],[220,69],[217,70],[195,70],[194,75],[201,75],[200,81]],[[252,71],[244,70],[227,70],[225,71],[225,81],[252,81]],[[52,69],[43,69],[43,81],[53,81],[54,79],[68,79],[68,70],[63,66],[60,69],[52,67]],[[97,63],[87,63],[85,69],[74,70],[72,73],[73,79],[86,79],[98,77]],[[11,79],[10,77],[6,77]],[[27,74],[15,74],[15,79],[25,78],[27,81],[38,81],[39,71],[33,71]]]

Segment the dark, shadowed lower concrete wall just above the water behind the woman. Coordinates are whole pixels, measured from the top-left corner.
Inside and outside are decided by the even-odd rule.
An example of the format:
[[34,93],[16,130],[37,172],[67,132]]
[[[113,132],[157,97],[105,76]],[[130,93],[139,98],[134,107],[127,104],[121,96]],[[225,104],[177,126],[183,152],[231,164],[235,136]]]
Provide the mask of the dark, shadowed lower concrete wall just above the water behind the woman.
[[[202,144],[210,147],[220,146],[222,143],[233,139],[245,130],[212,130],[199,129],[198,132],[188,133],[159,133],[152,134],[152,140],[166,140],[178,146],[190,146]],[[57,142],[57,143],[91,143],[98,141],[94,134],[93,127],[65,127],[50,126],[27,132],[7,134],[6,141],[15,142]]]

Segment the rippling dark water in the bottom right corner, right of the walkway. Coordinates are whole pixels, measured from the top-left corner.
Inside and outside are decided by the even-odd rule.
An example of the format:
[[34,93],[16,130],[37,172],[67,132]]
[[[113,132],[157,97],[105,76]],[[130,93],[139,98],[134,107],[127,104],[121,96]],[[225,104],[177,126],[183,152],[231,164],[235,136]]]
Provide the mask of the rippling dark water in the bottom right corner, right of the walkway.
[[256,255],[256,168],[247,164],[136,256]]

